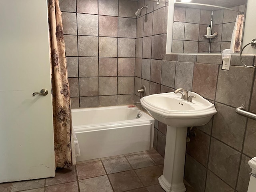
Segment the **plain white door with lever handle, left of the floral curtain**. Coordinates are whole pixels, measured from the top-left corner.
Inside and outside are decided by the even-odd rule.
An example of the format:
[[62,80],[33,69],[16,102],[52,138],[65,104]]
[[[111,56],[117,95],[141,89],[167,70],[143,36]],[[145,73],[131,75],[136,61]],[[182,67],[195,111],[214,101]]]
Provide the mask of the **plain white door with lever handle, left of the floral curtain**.
[[54,175],[47,0],[0,0],[0,183]]

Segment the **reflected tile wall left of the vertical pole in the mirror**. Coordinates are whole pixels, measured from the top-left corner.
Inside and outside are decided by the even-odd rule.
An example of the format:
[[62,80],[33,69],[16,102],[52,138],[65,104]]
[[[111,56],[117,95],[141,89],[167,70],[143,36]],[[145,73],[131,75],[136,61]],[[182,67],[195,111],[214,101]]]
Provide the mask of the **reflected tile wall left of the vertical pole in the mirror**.
[[209,39],[204,39],[211,24],[211,11],[175,6],[172,52],[209,52]]

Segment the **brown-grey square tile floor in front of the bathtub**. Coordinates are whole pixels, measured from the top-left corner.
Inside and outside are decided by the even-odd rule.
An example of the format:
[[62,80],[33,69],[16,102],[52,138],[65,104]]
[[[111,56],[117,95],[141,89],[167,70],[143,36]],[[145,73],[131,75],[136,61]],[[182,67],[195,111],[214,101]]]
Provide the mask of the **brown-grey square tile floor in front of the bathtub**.
[[[164,192],[164,158],[154,149],[78,162],[54,178],[0,184],[0,192]],[[187,192],[195,192],[187,186]]]

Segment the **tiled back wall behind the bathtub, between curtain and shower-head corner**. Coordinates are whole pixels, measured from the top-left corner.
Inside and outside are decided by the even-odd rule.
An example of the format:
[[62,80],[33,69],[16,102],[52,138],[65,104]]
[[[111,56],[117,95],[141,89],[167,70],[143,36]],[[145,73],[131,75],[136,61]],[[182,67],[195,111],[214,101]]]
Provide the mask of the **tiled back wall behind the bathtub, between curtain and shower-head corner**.
[[132,104],[136,1],[60,0],[72,108]]

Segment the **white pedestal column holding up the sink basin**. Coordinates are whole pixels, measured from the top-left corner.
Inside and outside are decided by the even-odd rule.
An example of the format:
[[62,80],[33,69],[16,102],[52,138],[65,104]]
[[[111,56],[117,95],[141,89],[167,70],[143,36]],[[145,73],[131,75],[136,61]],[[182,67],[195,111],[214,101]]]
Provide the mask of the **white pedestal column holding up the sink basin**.
[[167,126],[164,172],[158,178],[166,192],[185,192],[183,183],[187,127]]

